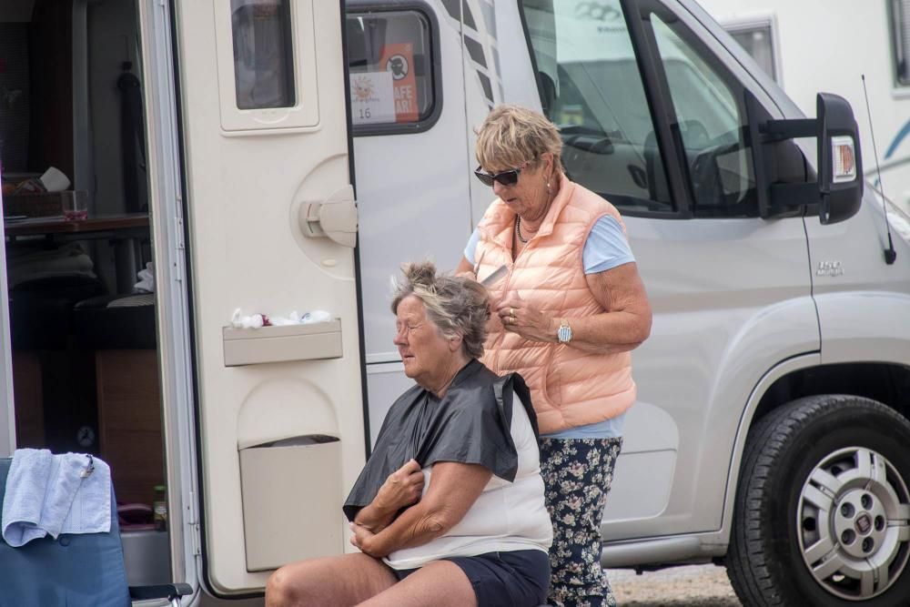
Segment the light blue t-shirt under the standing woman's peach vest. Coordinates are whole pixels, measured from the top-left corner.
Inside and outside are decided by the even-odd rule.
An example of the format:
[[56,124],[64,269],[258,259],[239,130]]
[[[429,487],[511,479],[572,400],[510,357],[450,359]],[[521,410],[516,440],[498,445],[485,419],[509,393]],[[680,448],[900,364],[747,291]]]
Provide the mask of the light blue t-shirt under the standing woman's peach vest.
[[[477,228],[474,228],[468,239],[468,246],[464,249],[464,258],[470,264],[476,263],[474,261],[474,253],[477,251],[477,241],[479,239],[480,233]],[[584,266],[584,273],[595,274],[603,272],[634,260],[632,249],[629,248],[629,241],[626,240],[625,234],[622,233],[620,222],[609,215],[598,219],[593,228],[591,228],[588,239],[584,241],[584,248],[581,251],[581,263]],[[622,436],[624,420],[625,413],[621,413],[611,420],[603,420],[587,426],[577,426],[553,432],[552,434],[544,434],[541,438],[613,439]]]

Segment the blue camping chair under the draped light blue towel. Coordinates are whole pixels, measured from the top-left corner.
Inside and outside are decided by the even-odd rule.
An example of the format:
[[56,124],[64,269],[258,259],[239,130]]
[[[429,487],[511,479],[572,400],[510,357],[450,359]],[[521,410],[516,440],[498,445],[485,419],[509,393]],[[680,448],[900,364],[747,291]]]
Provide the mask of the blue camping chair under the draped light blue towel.
[[[0,505],[11,462],[0,458]],[[180,597],[192,592],[185,583],[127,585],[113,490],[106,533],[61,533],[56,540],[48,535],[20,548],[0,538],[0,607],[124,607],[151,599],[178,607]]]

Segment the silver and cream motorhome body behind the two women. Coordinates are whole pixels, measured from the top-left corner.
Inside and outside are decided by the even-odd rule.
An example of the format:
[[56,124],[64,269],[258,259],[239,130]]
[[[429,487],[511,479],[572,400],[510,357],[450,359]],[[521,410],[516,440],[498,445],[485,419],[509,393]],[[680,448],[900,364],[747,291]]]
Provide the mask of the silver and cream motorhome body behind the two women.
[[[888,207],[896,252],[888,264],[885,207],[868,192],[852,217],[828,225],[820,221],[817,194],[773,217],[759,216],[753,189],[762,184],[752,154],[743,151],[749,146],[728,141],[720,126],[733,120],[730,137],[747,137],[743,96],[768,119],[804,114],[692,0],[349,0],[347,7],[289,0],[282,15],[292,33],[291,101],[239,109],[238,91],[257,76],[244,76],[236,64],[242,53],[231,15],[252,4],[137,0],[135,11],[165,477],[173,488],[170,567],[176,581],[199,589],[194,601],[258,602],[280,564],[352,550],[340,505],[386,410],[410,385],[391,344],[389,279],[404,261],[430,257],[454,268],[460,260],[492,200],[490,188],[470,174],[473,129],[499,103],[571,120],[596,106],[591,111],[602,112],[600,119],[609,104],[602,99],[599,106],[598,98],[611,88],[638,86],[647,89],[648,103],[630,106],[638,110],[636,120],[651,121],[652,137],[655,131],[658,140],[672,136],[680,146],[672,152],[648,143],[643,132],[636,138],[623,121],[612,130],[603,126],[596,137],[579,123],[561,125],[574,137],[563,155],[570,176],[607,193],[623,214],[654,312],[651,338],[633,353],[639,400],[626,419],[604,512],[605,566],[729,557],[737,491],[749,480],[741,475],[743,454],[757,452],[749,432],[794,400],[849,394],[907,414],[910,325],[901,319],[910,313],[910,221]],[[553,4],[568,16],[553,17]],[[352,122],[346,82],[349,69],[350,76],[356,72],[352,25],[357,30],[387,13],[417,14],[421,31],[430,34],[430,58],[420,59],[420,69],[433,75],[434,101],[413,125],[364,128],[356,116]],[[651,38],[635,36],[651,29],[636,29],[634,43],[630,38],[628,24],[652,23],[629,16],[638,13],[662,23],[654,25],[660,39],[648,49],[641,41]],[[573,44],[556,48],[568,41]],[[662,77],[654,76],[658,65],[666,66]],[[595,69],[622,78],[603,82]],[[547,106],[544,76],[553,86]],[[735,95],[724,88],[731,83]],[[591,106],[553,109],[570,86],[576,100]],[[691,116],[682,106],[679,116],[672,112],[683,90],[674,86],[689,86],[696,107],[716,102],[723,114],[717,128],[708,118],[684,121]],[[649,112],[649,104],[670,112]],[[689,177],[695,168],[686,164],[692,160],[686,160],[687,137],[701,137],[698,122],[710,131],[705,140],[733,150],[711,157],[726,163],[714,169],[718,187],[742,189],[730,207],[693,202],[702,195],[697,177]],[[798,158],[811,181],[814,140],[799,144],[802,151],[787,147],[786,157]],[[662,187],[653,177],[661,170]],[[778,177],[786,173],[774,170]],[[642,177],[646,171],[651,177]],[[722,173],[738,177],[722,184]],[[615,198],[608,195],[612,187]],[[4,455],[16,446],[15,386],[0,282]],[[232,331],[235,309],[272,316],[328,310],[337,320],[316,332]],[[862,411],[854,422],[865,423]],[[884,566],[892,579],[878,575],[881,564],[848,575],[858,584],[851,601],[877,604],[883,593],[894,598],[910,583],[904,566],[910,496],[901,492],[910,468],[896,460],[889,465],[895,472],[882,484],[894,494],[886,501],[893,545]],[[806,477],[794,472],[784,481],[804,495]],[[797,564],[822,596],[848,595],[825,585],[830,572]]]

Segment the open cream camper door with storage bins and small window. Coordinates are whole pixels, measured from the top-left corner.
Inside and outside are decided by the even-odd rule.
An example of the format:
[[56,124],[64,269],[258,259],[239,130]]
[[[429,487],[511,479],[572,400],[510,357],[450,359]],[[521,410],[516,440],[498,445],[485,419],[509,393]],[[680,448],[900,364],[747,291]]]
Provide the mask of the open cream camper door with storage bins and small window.
[[345,551],[341,503],[364,461],[342,8],[175,6],[202,554],[209,591],[237,596]]

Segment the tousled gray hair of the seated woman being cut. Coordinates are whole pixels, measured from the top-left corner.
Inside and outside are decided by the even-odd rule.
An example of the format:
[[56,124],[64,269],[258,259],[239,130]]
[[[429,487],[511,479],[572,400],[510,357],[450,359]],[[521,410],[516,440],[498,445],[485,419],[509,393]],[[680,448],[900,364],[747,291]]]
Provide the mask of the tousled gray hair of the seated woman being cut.
[[471,278],[437,274],[431,261],[403,264],[401,272],[404,278],[395,284],[392,313],[398,312],[402,299],[419,298],[440,335],[446,339],[460,335],[464,353],[480,359],[490,319],[487,289]]

